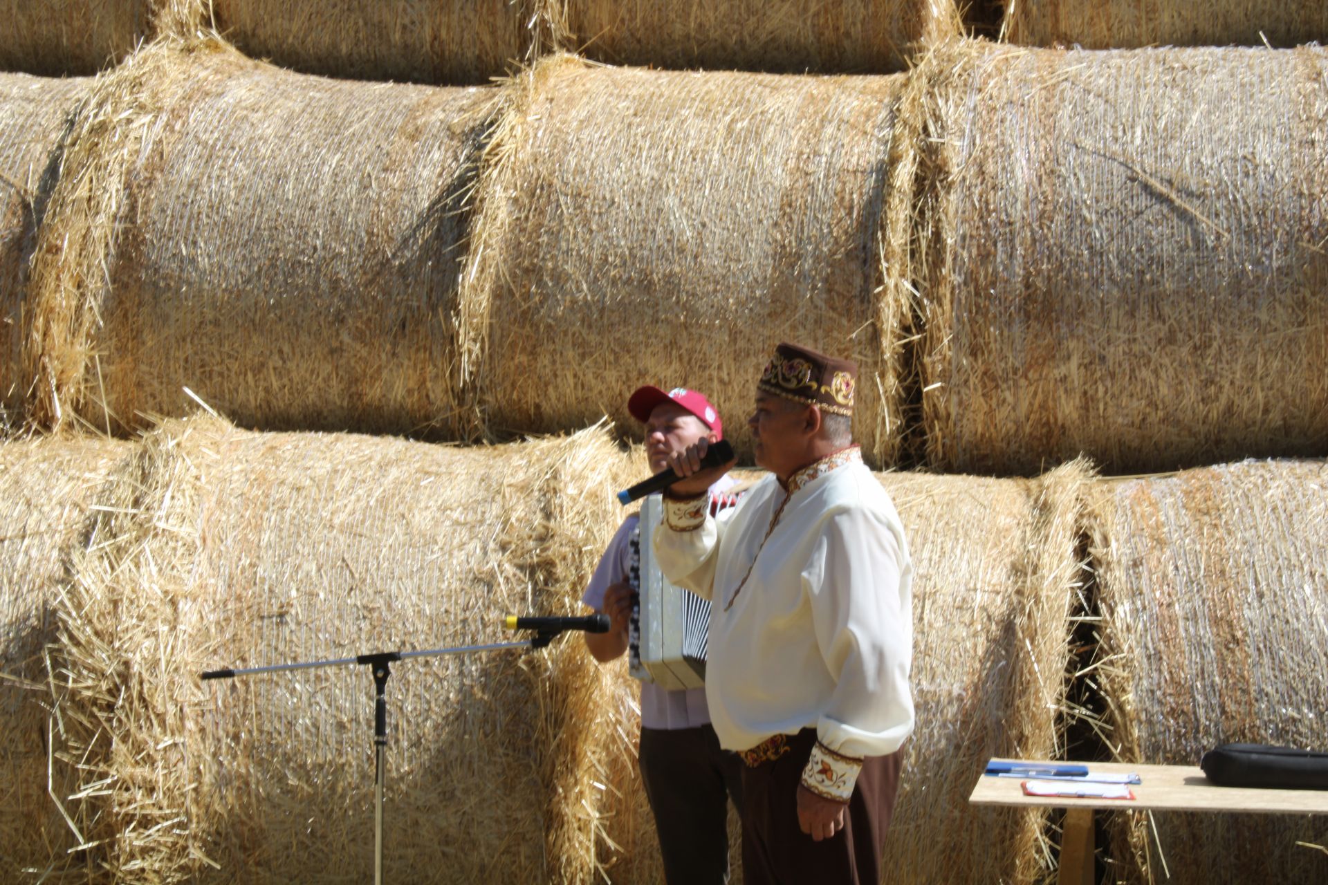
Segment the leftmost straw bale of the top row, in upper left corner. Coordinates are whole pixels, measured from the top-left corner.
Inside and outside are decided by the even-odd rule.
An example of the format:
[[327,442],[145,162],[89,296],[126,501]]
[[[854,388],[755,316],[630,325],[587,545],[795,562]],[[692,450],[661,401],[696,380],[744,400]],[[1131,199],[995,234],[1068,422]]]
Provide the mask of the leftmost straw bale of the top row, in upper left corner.
[[202,0],[0,0],[0,70],[94,74],[143,40],[187,29]]

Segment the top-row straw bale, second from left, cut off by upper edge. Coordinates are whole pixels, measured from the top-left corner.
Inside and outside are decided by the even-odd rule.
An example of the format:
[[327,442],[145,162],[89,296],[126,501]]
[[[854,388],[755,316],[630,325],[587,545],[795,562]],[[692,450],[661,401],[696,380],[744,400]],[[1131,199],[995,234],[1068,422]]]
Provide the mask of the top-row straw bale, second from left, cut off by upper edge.
[[537,0],[212,0],[240,50],[331,77],[482,84],[531,45]]

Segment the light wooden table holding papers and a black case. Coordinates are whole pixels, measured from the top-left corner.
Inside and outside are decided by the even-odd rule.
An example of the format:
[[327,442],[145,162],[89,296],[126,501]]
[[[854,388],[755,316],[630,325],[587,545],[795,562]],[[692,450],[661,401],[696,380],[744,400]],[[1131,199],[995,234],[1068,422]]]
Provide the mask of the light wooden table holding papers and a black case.
[[[1021,766],[1064,764],[1045,760],[995,759]],[[1093,811],[1215,811],[1262,815],[1328,815],[1324,789],[1248,789],[1218,787],[1197,766],[1135,766],[1089,762],[1090,772],[1137,774],[1143,783],[1131,784],[1134,799],[1069,799],[1065,796],[1025,796],[1020,784],[1037,778],[977,779],[968,801],[975,805],[1017,805],[1064,808],[1061,833],[1060,885],[1094,885]]]

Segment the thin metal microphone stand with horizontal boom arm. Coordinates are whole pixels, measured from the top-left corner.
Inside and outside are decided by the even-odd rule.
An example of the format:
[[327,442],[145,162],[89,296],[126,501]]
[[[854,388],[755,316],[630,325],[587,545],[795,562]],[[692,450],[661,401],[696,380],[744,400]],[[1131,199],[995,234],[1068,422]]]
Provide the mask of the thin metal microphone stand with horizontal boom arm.
[[297,663],[274,663],[264,667],[207,670],[202,675],[205,679],[234,679],[236,677],[255,675],[259,673],[284,673],[288,670],[312,670],[313,667],[336,667],[348,665],[361,665],[371,667],[373,673],[373,882],[382,885],[382,793],[386,785],[385,754],[388,750],[388,677],[392,675],[392,663],[408,661],[410,658],[440,657],[445,654],[471,654],[475,651],[499,651],[502,649],[543,649],[563,633],[566,628],[550,626],[535,632],[535,636],[519,642],[494,642],[490,645],[461,645],[450,649],[428,649],[424,651],[378,651],[374,654],[359,654],[353,658],[336,658],[328,661],[301,661]]

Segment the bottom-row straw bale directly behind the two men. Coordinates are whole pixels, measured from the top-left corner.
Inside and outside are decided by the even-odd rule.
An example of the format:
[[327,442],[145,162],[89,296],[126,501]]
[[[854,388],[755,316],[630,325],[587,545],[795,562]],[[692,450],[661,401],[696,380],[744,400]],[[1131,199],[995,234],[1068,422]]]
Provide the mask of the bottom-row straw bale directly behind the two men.
[[[902,882],[1032,882],[1052,865],[1037,809],[968,804],[992,756],[1064,752],[1072,613],[1081,608],[1080,525],[1089,474],[1040,479],[879,474],[914,560],[918,730],[886,856]],[[619,732],[635,735],[635,687],[619,670]],[[625,716],[625,718],[623,718]],[[663,881],[644,791],[628,760],[610,784],[608,836],[627,847],[614,881]],[[647,849],[647,851],[643,851]]]

